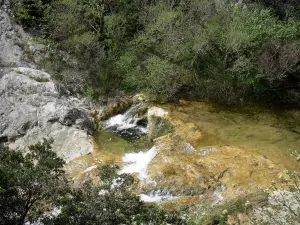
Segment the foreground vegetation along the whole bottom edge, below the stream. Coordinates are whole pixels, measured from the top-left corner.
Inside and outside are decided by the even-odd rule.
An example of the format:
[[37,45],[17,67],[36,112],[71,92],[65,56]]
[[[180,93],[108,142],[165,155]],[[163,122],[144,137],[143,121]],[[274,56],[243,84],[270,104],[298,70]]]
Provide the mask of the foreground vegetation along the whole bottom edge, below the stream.
[[[274,224],[294,225],[300,218],[299,208],[290,206],[291,202],[300,203],[300,177],[296,172],[286,171],[287,181],[291,181],[287,182],[289,192],[283,191],[279,196],[270,191],[227,199],[219,205],[204,201],[180,216],[141,202],[134,194],[133,177],[119,175],[118,166],[103,166],[97,181],[88,180],[74,187],[66,178],[64,161],[51,150],[51,142],[47,140],[30,146],[26,154],[3,149],[0,162],[0,225],[34,222],[45,225],[212,225],[227,224],[228,216],[237,213],[253,217],[253,210],[265,215],[253,217],[253,224],[275,221]],[[271,190],[278,191],[275,183]],[[276,203],[274,206],[268,205],[268,197]]]

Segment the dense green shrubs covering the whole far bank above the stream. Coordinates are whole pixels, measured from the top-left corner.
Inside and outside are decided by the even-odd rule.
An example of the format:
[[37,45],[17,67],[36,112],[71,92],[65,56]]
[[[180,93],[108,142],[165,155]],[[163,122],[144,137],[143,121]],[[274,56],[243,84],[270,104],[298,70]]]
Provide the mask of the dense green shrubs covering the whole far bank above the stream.
[[[71,92],[298,104],[295,0],[14,0]],[[238,2],[238,3],[237,3]]]

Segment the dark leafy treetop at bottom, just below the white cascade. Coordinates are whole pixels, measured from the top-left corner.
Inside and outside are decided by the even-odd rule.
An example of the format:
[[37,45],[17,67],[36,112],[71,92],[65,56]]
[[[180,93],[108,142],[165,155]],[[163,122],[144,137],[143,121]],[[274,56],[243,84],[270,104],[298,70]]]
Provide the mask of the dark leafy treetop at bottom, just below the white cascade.
[[82,188],[72,190],[61,202],[61,214],[43,222],[51,225],[186,224],[174,213],[143,203],[132,193],[132,176],[118,175],[118,170],[118,166],[102,167],[99,185],[87,182]]

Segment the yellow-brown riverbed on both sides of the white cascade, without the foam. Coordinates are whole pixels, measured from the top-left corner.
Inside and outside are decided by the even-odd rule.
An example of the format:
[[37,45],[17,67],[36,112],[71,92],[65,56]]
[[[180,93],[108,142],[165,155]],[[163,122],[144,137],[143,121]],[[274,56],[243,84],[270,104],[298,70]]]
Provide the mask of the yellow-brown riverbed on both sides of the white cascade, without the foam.
[[[153,143],[158,153],[148,174],[156,188],[180,196],[217,191],[230,197],[267,188],[272,180],[284,184],[285,169],[300,169],[291,155],[300,148],[299,111],[225,109],[187,101],[156,106],[168,112],[166,118],[175,127]],[[109,131],[96,133],[94,145],[94,152],[67,165],[74,179],[82,179],[96,166],[122,165],[124,153],[134,151]]]

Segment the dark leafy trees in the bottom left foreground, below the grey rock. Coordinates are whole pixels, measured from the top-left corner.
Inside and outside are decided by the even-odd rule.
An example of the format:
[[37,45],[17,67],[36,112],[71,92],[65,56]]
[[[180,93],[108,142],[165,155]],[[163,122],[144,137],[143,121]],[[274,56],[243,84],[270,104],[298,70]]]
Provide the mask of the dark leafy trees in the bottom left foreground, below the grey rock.
[[64,161],[44,140],[27,154],[0,151],[0,224],[186,224],[178,215],[141,202],[132,193],[133,178],[118,175],[117,166],[99,170],[99,184],[74,188]]

